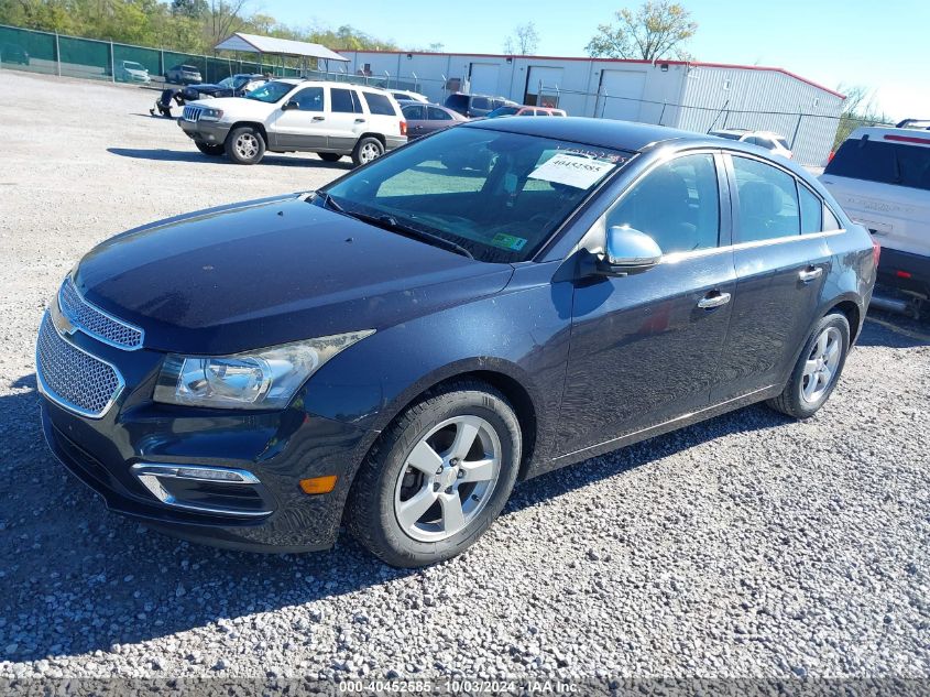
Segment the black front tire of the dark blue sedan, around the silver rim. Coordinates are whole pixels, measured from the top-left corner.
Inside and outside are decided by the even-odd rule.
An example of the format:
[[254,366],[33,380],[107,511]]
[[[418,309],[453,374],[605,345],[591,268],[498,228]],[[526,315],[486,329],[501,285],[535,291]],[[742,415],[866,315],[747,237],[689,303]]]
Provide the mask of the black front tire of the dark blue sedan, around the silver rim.
[[[415,540],[402,527],[395,513],[398,482],[402,477],[405,478],[403,481],[407,481],[406,477],[411,475],[424,477],[408,465],[412,450],[430,431],[456,417],[478,417],[493,428],[501,446],[497,478],[482,497],[483,508],[474,511],[464,527],[435,542]],[[385,429],[362,464],[346,509],[349,532],[372,554],[397,567],[426,566],[461,554],[488,530],[506,504],[519,469],[521,438],[519,422],[513,407],[503,394],[483,382],[451,383],[425,394]],[[455,462],[450,460],[448,464]],[[428,481],[427,487],[430,486]],[[435,491],[439,491],[440,484],[434,486]],[[447,489],[445,493],[449,491]],[[468,490],[463,494],[466,504],[471,503],[472,498],[477,500]],[[460,495],[456,489],[456,497]],[[438,504],[438,499],[434,501]],[[427,511],[424,518],[428,515]]]

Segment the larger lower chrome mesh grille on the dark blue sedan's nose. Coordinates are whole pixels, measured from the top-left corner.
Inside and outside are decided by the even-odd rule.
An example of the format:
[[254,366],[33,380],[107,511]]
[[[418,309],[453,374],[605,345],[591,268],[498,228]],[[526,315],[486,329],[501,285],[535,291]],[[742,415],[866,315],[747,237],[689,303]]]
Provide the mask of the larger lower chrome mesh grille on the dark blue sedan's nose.
[[123,388],[116,368],[62,338],[48,313],[39,329],[35,367],[48,399],[92,418],[102,416]]

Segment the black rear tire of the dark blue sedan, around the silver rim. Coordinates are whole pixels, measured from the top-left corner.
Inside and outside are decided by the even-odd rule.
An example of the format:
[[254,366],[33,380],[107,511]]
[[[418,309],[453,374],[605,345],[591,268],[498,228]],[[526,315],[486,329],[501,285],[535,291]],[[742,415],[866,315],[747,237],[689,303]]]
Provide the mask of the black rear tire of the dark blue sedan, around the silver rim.
[[[807,399],[803,395],[803,391],[806,386],[810,385],[812,378],[805,374],[806,367],[809,360],[813,363],[817,362],[812,359],[814,359],[816,353],[818,353],[816,348],[821,335],[827,336],[828,346],[831,341],[831,337],[833,337],[832,340],[836,341],[840,352],[836,357],[835,363],[833,364],[829,382],[825,383],[824,388],[811,394],[813,399]],[[843,366],[846,363],[846,356],[849,352],[849,320],[845,315],[842,315],[841,313],[831,313],[827,315],[823,319],[817,323],[813,331],[810,333],[807,341],[805,341],[805,348],[798,357],[798,362],[791,371],[791,377],[788,379],[785,390],[778,396],[768,400],[767,404],[772,409],[781,412],[783,414],[787,414],[788,416],[794,416],[795,418],[809,418],[813,416],[833,393],[833,390],[840,380],[840,375],[843,372]]]

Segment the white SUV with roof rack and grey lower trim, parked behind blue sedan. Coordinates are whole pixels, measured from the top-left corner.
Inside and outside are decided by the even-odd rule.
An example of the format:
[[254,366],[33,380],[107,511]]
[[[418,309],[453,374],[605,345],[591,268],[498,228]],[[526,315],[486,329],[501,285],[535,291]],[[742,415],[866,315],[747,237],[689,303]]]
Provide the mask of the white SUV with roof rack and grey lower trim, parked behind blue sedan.
[[315,152],[327,162],[351,155],[357,165],[407,142],[407,122],[381,89],[276,79],[244,97],[194,101],[178,124],[206,155],[255,164],[266,151]]

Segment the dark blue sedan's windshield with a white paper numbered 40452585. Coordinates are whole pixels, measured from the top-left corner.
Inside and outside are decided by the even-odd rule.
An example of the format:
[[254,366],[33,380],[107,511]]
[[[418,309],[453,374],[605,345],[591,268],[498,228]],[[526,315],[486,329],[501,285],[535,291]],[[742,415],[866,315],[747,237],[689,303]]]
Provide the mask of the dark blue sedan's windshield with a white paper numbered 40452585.
[[[525,261],[632,153],[481,128],[397,150],[326,189],[347,215],[389,217],[480,261]],[[318,197],[326,205],[327,197]]]

